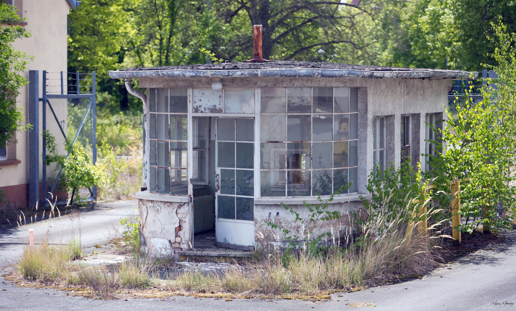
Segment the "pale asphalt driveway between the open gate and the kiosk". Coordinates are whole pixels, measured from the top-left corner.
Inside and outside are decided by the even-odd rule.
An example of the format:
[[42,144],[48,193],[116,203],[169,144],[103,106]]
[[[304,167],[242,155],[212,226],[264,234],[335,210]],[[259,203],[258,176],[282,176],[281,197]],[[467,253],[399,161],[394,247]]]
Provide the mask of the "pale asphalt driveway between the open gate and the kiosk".
[[[98,203],[93,210],[80,213],[79,219],[70,215],[51,218],[33,224],[0,231],[0,267],[14,263],[21,256],[23,244],[28,243],[29,229],[34,229],[35,243],[66,243],[78,236],[83,248],[105,243],[120,229],[120,219],[138,215],[138,200]],[[30,221],[29,221],[30,222]]]

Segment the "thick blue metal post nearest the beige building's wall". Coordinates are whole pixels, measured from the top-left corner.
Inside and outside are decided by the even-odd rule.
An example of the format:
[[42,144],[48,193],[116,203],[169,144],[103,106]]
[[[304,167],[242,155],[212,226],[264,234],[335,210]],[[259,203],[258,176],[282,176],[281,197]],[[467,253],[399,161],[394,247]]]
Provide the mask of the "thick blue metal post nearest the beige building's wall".
[[39,200],[39,72],[29,70],[28,122],[29,132],[29,206]]

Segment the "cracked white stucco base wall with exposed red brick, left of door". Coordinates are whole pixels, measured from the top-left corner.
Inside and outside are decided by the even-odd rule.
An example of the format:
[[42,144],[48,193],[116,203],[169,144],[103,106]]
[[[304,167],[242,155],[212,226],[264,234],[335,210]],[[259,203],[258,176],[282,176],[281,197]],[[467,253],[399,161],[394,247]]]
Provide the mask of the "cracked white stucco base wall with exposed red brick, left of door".
[[174,256],[190,249],[191,203],[139,200],[140,241],[151,255]]

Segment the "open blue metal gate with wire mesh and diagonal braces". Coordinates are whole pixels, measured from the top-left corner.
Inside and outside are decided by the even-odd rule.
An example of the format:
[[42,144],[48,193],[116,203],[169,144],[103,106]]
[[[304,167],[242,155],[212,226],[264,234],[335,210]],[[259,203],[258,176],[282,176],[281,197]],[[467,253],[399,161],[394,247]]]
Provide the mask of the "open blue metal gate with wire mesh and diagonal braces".
[[[66,150],[67,141],[82,145],[96,162],[96,105],[95,105],[95,72],[91,74],[43,71],[42,83],[42,130],[51,134],[57,146],[57,154],[70,155]],[[60,81],[60,82],[59,82]],[[57,83],[56,83],[57,82]],[[65,84],[66,83],[66,84]],[[65,88],[66,87],[66,88]],[[65,90],[66,93],[65,94]],[[56,94],[57,93],[57,94]],[[60,93],[60,94],[59,94]],[[42,189],[43,197],[50,199],[50,193],[56,196],[58,181],[62,168],[57,163],[46,165],[46,139],[42,139]],[[80,196],[96,198],[96,186],[77,189]]]

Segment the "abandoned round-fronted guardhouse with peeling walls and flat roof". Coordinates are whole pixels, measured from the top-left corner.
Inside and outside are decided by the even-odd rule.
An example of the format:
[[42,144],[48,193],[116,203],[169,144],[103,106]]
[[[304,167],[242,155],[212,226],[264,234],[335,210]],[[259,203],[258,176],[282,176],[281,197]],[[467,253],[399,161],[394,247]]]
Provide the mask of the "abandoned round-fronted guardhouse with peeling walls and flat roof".
[[[451,80],[470,76],[299,61],[109,74],[143,100],[143,187],[136,197],[142,243],[159,254],[196,249],[193,235],[213,229],[220,247],[277,242],[281,234],[267,222],[300,229],[280,203],[305,215],[303,201],[317,203],[318,194],[324,199],[341,185],[349,189],[329,210],[356,211],[374,165],[410,157],[425,169],[421,154],[432,152],[426,123],[445,118]],[[346,224],[347,216],[327,222]]]

